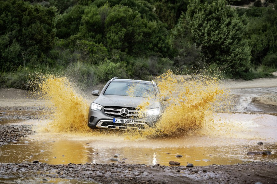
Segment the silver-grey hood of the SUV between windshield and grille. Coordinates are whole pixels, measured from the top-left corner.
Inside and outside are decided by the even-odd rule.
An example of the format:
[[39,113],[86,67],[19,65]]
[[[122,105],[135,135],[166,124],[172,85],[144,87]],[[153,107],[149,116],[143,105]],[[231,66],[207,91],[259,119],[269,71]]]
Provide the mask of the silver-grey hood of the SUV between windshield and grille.
[[122,107],[138,107],[143,102],[149,102],[149,108],[158,108],[160,103],[157,99],[148,100],[148,98],[135,97],[135,96],[119,96],[119,95],[100,95],[94,100],[102,106],[122,106]]

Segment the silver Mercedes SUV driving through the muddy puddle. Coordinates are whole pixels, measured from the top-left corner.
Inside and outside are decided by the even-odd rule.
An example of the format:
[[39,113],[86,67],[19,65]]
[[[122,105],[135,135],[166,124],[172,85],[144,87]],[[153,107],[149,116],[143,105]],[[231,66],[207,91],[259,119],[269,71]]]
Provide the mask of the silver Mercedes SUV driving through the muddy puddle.
[[[146,130],[161,118],[162,107],[154,81],[112,78],[90,105],[88,126],[92,129]],[[147,103],[147,109],[140,106]]]

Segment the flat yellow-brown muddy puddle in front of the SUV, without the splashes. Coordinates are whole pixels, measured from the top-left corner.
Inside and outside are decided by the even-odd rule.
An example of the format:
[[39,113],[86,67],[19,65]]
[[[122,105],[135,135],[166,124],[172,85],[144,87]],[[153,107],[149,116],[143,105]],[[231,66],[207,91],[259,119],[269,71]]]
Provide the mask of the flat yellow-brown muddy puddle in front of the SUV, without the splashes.
[[[106,131],[95,133],[37,133],[0,147],[2,163],[39,160],[42,163],[119,163],[169,165],[235,164],[248,161],[277,162],[277,116],[253,113],[214,114],[214,124],[170,138],[126,139]],[[25,121],[39,130],[47,121]],[[211,128],[213,127],[213,128]],[[213,130],[212,130],[213,129]],[[256,143],[262,141],[264,145]],[[248,151],[272,155],[248,156]],[[117,155],[118,161],[110,161]],[[182,155],[177,158],[176,155]]]

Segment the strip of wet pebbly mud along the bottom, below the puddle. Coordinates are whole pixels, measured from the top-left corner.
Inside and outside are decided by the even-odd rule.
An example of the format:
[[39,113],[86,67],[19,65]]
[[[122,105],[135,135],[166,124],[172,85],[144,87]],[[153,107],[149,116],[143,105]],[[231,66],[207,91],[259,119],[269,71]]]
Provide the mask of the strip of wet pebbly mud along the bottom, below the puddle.
[[110,183],[277,183],[277,164],[252,162],[236,165],[169,167],[160,165],[1,163],[1,180],[12,178],[76,179]]

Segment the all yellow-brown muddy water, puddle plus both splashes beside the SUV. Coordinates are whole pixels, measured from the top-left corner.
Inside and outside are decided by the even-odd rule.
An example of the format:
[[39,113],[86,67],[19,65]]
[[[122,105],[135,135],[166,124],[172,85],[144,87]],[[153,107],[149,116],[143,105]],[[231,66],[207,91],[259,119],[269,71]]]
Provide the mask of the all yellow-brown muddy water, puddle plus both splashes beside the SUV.
[[[17,122],[33,124],[37,133],[0,147],[0,162],[168,165],[173,160],[196,166],[277,162],[277,116],[217,112],[232,103],[224,99],[226,93],[216,78],[185,79],[172,73],[160,78],[159,88],[162,96],[170,96],[169,104],[157,126],[144,133],[89,129],[91,101],[78,95],[66,78],[46,78],[41,94],[53,110],[51,117]],[[264,145],[257,145],[259,141]],[[248,156],[248,151],[272,155]],[[111,161],[115,155],[118,161]]]

